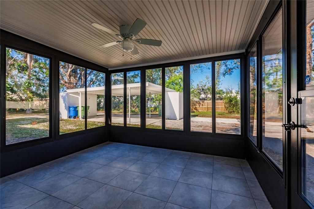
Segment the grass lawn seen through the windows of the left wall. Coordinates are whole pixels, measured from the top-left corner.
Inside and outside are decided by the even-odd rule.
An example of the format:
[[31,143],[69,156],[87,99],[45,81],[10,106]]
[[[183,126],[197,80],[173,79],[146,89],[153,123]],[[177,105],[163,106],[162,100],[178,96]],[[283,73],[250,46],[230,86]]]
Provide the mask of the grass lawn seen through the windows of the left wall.
[[[87,121],[88,128],[104,126],[105,122]],[[84,120],[60,119],[60,134],[84,130]],[[6,120],[6,141],[22,142],[49,137],[48,117],[24,117]],[[10,142],[9,142],[10,143]]]

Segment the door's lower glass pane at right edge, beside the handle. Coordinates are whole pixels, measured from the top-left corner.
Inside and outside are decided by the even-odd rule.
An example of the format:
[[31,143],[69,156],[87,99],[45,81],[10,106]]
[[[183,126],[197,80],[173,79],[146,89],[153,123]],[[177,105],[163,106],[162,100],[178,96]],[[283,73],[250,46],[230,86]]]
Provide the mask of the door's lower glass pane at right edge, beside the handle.
[[314,96],[303,97],[301,108],[302,193],[314,202]]

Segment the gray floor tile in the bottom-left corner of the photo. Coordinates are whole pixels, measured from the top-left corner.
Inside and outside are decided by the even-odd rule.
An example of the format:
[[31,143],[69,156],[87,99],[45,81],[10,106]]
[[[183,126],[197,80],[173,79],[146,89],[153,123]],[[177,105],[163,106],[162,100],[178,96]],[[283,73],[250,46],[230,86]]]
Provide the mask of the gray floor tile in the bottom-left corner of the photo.
[[27,187],[24,190],[3,198],[1,200],[1,208],[24,209],[44,199],[47,196],[47,194],[41,191],[35,190],[31,187]]

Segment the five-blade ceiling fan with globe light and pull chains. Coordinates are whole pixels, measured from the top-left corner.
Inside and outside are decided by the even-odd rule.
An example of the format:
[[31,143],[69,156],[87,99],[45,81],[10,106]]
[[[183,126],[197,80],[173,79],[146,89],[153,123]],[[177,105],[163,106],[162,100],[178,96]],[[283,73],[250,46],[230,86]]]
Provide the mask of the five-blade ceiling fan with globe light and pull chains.
[[153,40],[153,39],[134,39],[134,36],[138,35],[138,33],[146,26],[146,23],[142,19],[136,19],[132,26],[122,24],[120,26],[120,34],[117,34],[113,30],[106,28],[98,23],[92,23],[92,26],[95,28],[101,29],[110,33],[112,35],[116,35],[117,37],[123,38],[122,41],[114,41],[111,43],[100,45],[100,47],[106,48],[109,46],[114,46],[116,44],[121,44],[121,47],[124,51],[129,51],[131,54],[138,54],[138,50],[134,45],[134,42],[149,46],[161,46],[161,40]]

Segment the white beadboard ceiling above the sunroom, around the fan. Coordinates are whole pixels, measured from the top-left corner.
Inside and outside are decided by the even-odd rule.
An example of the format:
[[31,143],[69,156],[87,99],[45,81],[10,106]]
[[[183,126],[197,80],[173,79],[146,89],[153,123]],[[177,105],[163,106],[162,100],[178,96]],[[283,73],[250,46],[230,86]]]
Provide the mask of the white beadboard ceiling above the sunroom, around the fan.
[[[0,27],[74,56],[117,68],[153,62],[204,57],[243,50],[268,4],[251,1],[1,1]],[[139,54],[120,40],[92,27],[93,22],[116,32],[136,18],[147,22],[136,38],[162,40],[162,46],[137,44]]]

